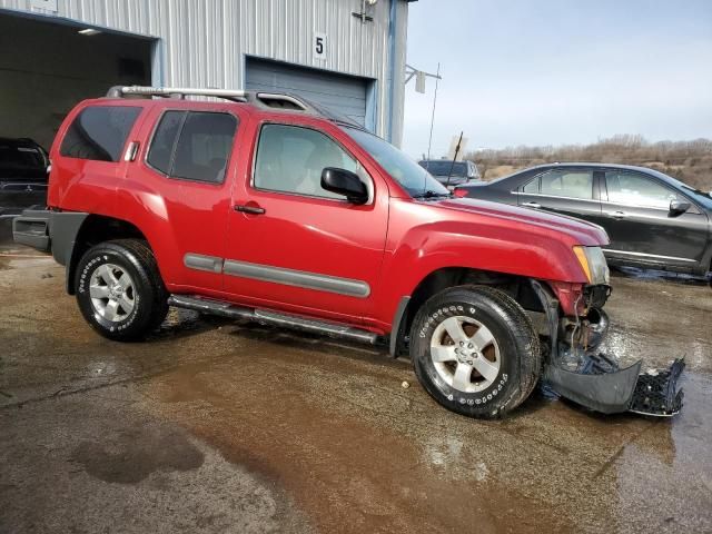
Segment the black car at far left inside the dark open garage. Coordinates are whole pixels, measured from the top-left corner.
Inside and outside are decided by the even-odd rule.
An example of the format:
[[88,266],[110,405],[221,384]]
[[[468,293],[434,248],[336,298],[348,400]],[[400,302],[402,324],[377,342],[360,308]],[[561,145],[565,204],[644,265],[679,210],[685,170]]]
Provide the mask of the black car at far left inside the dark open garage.
[[47,151],[31,139],[0,137],[0,215],[47,205]]

